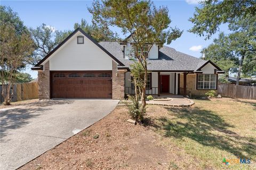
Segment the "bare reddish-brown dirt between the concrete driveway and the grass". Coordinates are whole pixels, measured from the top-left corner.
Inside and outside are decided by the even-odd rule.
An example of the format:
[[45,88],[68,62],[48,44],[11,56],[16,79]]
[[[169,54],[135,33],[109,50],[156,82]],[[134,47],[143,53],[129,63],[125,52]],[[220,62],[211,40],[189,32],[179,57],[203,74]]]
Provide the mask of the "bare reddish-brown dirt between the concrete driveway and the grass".
[[[165,110],[150,106],[149,116],[156,109]],[[186,160],[196,159],[173,145],[164,145],[156,127],[133,125],[126,122],[128,118],[126,108],[117,107],[20,169],[197,169]]]

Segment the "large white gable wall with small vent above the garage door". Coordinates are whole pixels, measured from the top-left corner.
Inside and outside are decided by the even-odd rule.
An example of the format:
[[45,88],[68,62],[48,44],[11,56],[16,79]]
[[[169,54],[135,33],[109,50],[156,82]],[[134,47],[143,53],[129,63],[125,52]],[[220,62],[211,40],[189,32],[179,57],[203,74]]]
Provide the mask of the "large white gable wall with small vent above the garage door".
[[[113,59],[89,38],[77,44],[78,31],[45,62],[50,60],[50,70],[112,70]],[[44,62],[44,63],[45,63]]]

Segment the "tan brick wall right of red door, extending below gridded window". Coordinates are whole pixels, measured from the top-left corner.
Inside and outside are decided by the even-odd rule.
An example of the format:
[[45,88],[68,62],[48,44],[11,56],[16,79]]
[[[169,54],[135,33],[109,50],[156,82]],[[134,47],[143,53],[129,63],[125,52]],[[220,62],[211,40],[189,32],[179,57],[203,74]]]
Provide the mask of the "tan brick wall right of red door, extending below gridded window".
[[[183,74],[180,74],[180,87],[183,88]],[[196,89],[196,74],[187,74],[187,96],[205,96],[205,93],[209,90],[197,90]],[[217,92],[217,90],[215,90]]]

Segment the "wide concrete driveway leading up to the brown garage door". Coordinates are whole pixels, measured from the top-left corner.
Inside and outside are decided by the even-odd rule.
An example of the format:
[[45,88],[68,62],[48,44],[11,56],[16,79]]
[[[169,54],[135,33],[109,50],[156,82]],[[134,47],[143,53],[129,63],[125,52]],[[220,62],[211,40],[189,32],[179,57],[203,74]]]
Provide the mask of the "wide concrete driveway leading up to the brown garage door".
[[39,101],[0,109],[0,169],[16,169],[108,115],[118,100]]

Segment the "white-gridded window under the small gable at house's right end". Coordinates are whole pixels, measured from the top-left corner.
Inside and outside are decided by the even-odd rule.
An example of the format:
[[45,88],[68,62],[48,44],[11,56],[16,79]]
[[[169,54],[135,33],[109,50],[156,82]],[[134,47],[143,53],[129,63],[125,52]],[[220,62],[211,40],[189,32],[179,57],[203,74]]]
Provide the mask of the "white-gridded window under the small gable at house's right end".
[[216,89],[216,74],[197,74],[197,89]]

